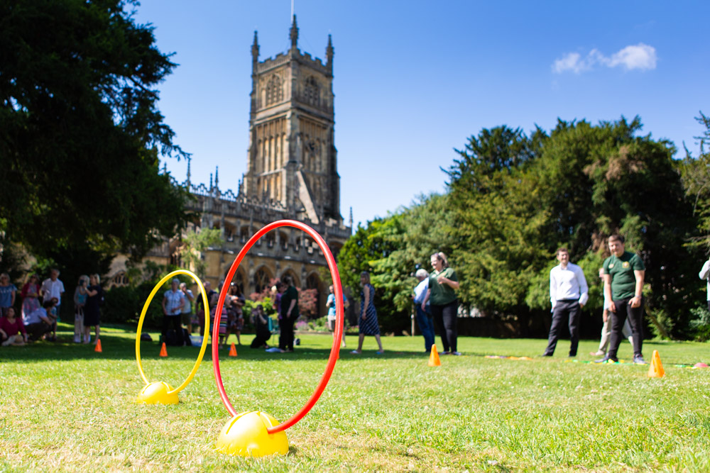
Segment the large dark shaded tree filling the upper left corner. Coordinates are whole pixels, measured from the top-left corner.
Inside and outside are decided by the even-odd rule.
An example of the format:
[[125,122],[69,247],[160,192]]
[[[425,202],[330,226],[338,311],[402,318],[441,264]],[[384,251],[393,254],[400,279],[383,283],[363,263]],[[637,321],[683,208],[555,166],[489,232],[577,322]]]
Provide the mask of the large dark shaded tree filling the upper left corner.
[[137,6],[0,5],[0,233],[35,255],[138,258],[185,225],[187,194],[158,172],[158,153],[185,155],[157,108],[175,64]]

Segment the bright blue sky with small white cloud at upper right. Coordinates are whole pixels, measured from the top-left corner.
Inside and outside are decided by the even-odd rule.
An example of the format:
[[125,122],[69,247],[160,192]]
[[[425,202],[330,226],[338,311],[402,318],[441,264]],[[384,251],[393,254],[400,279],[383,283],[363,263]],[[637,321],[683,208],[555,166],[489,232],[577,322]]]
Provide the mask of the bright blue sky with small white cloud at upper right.
[[[290,0],[146,0],[158,48],[179,64],[160,111],[192,153],[192,181],[234,189],[246,171],[251,43],[290,47]],[[557,118],[643,121],[643,133],[697,152],[710,113],[708,1],[295,0],[302,51],[332,34],[341,213],[365,223],[441,192],[466,139]],[[168,159],[182,182],[187,163]]]

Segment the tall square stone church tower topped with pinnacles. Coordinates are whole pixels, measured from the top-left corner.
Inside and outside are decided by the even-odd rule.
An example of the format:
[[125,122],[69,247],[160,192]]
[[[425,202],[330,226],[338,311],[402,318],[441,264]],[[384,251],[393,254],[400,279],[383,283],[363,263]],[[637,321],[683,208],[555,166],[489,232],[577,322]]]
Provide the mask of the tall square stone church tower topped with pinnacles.
[[342,222],[334,145],[332,40],[328,35],[325,64],[300,52],[295,15],[290,40],[288,52],[260,62],[254,32],[244,193],[295,211],[299,220]]

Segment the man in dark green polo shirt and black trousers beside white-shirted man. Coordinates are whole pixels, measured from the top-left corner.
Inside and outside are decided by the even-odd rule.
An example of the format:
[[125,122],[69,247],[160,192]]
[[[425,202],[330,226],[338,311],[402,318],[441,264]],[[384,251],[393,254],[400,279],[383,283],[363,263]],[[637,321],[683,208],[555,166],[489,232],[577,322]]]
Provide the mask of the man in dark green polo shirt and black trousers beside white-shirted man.
[[645,267],[641,258],[635,253],[625,251],[623,237],[611,235],[608,239],[611,256],[604,260],[604,299],[611,301],[611,343],[606,356],[597,363],[608,361],[618,362],[616,352],[623,340],[621,330],[628,317],[633,337],[633,362],[645,365],[641,355],[641,323],[643,316],[643,277]]

